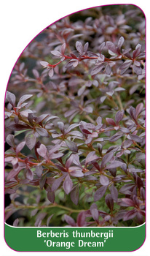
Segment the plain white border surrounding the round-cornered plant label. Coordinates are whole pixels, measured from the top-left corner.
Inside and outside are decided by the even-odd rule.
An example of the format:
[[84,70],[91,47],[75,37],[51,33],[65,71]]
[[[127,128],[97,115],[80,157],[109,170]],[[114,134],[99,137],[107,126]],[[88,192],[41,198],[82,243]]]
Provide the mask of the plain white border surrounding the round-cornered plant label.
[[[7,0],[1,1],[1,55],[0,55],[0,71],[1,71],[1,93],[0,93],[0,120],[1,120],[1,135],[0,135],[0,187],[1,187],[1,222],[0,222],[0,244],[1,244],[1,256],[11,255],[44,255],[44,252],[15,252],[10,249],[4,241],[3,233],[3,108],[4,108],[4,94],[6,91],[7,82],[9,79],[10,72],[17,61],[18,56],[23,49],[28,45],[28,42],[39,34],[40,31],[45,29],[51,23],[56,20],[63,18],[66,15],[70,15],[72,12],[77,12],[90,7],[96,7],[106,4],[135,4],[140,7],[146,15],[147,21],[147,59],[149,56],[149,1],[148,0],[133,0],[133,1],[113,1],[113,0]],[[149,70],[149,61],[147,61],[147,70]],[[147,71],[147,131],[150,131],[148,113],[149,113],[149,71]],[[147,145],[149,142],[149,135],[147,132]],[[147,151],[149,147],[147,146]],[[149,152],[148,152],[149,154]],[[147,154],[147,155],[148,155]],[[147,157],[148,158],[148,157]],[[132,255],[148,256],[149,255],[149,162],[147,160],[147,235],[146,242],[143,246],[135,252],[130,252]],[[133,238],[134,239],[134,238]],[[46,254],[47,252],[45,252]],[[58,252],[50,252],[50,255],[56,255]],[[66,256],[67,252],[60,252],[61,256]],[[68,252],[69,255],[75,255],[76,252]],[[99,252],[93,252],[94,255],[99,255]],[[79,255],[91,255],[91,252],[78,252]],[[129,252],[100,252],[100,255],[129,255]]]

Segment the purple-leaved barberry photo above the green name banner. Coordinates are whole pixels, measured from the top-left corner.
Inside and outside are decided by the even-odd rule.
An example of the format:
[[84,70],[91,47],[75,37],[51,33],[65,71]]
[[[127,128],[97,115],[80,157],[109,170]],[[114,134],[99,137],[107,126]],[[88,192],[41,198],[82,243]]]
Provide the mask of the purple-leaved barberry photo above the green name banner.
[[133,4],[93,7],[23,50],[4,102],[8,225],[145,222],[145,23]]

